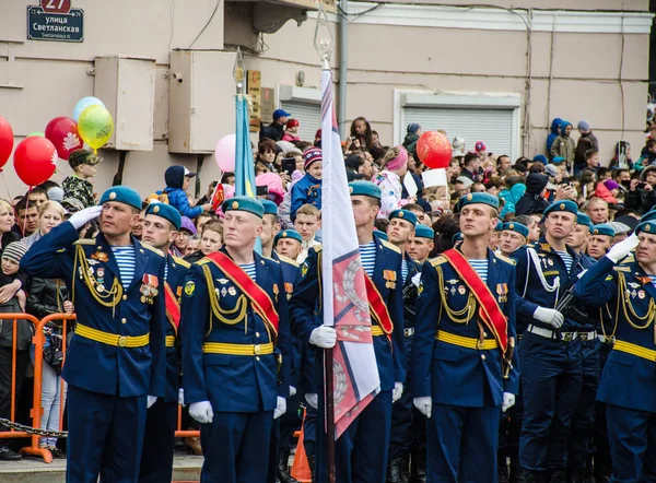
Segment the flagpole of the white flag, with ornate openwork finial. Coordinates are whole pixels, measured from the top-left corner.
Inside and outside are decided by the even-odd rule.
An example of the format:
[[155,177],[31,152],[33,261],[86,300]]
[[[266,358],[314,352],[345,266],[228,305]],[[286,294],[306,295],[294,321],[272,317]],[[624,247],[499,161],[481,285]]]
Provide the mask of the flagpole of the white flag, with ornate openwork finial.
[[[321,70],[330,70],[330,56],[335,48],[332,32],[328,24],[328,17],[324,10],[324,3],[319,1],[317,24],[315,27],[314,47],[321,59]],[[332,89],[332,86],[330,86]],[[324,133],[323,139],[331,142],[331,137]],[[324,349],[324,397],[326,416],[326,460],[328,466],[328,483],[336,483],[335,468],[335,391],[333,391],[333,360],[332,349]]]

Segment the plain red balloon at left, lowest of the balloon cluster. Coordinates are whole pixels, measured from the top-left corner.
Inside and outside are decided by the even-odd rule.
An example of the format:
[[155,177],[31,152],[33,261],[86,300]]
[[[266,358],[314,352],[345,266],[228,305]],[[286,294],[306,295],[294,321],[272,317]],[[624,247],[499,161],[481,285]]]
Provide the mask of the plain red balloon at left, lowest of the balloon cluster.
[[38,136],[25,138],[14,152],[14,169],[27,186],[47,181],[57,169],[55,144]]

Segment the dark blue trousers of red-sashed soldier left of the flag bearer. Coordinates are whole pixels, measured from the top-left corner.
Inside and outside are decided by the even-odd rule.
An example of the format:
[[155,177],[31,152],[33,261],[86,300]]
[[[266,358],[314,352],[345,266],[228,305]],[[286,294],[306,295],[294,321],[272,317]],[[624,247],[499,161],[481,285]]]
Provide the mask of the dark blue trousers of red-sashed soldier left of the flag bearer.
[[273,411],[258,413],[215,412],[210,424],[200,425],[204,455],[203,483],[266,482]]

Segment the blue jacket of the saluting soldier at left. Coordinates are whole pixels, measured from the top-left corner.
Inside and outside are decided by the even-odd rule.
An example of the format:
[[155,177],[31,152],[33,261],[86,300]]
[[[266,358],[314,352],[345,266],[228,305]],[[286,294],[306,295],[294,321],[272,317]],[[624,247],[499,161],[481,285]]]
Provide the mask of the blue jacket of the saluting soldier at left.
[[[132,237],[134,245],[134,278],[124,287],[122,299],[113,307],[102,306],[75,267],[78,232],[62,223],[35,243],[21,260],[30,275],[63,279],[73,295],[78,323],[118,335],[143,335],[150,332],[150,344],[142,347],[118,347],[78,334],[68,349],[63,378],[80,389],[119,397],[164,396],[166,375],[166,309],[164,305],[164,257]],[[95,239],[81,239],[90,269],[106,290],[120,278],[112,247],[99,234]],[[101,276],[102,275],[102,276]],[[141,302],[144,276],[159,281],[159,294],[153,304]],[[119,279],[120,280],[120,279]]]

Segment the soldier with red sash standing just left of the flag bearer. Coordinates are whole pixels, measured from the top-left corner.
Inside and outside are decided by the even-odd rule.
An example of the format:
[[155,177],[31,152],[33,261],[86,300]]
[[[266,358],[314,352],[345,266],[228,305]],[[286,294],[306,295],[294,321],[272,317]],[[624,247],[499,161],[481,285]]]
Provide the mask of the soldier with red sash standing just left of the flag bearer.
[[254,251],[263,207],[226,200],[224,247],[183,288],[185,402],[201,423],[206,483],[265,482],[273,419],[286,410],[290,332],[280,264]]

